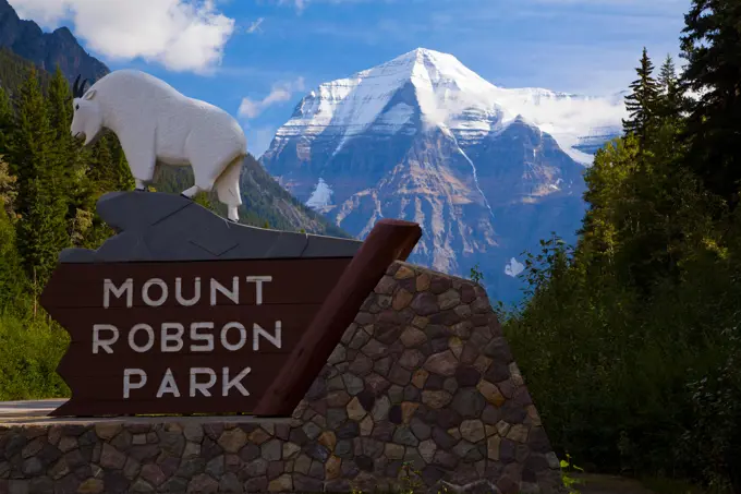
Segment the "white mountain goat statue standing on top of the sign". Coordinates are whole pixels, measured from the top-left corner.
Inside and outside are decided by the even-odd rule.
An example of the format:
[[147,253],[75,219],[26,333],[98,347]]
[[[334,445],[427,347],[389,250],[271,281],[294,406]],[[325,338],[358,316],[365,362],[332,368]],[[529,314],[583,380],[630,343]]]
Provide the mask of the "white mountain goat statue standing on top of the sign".
[[239,221],[242,204],[240,172],[247,154],[247,140],[229,113],[205,101],[189,98],[157,77],[134,70],[104,76],[86,92],[85,83],[73,86],[74,117],[71,132],[95,143],[104,129],[119,138],[136,181],[146,190],[155,166],[193,168],[195,185],[182,192],[193,198],[216,188],[228,217]]

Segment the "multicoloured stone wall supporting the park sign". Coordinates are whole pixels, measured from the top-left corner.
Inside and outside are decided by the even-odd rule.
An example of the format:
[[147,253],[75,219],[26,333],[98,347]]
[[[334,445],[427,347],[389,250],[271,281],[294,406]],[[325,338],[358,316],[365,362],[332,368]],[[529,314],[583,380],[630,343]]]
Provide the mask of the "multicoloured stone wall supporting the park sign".
[[0,427],[0,494],[562,492],[485,291],[394,263],[292,419]]

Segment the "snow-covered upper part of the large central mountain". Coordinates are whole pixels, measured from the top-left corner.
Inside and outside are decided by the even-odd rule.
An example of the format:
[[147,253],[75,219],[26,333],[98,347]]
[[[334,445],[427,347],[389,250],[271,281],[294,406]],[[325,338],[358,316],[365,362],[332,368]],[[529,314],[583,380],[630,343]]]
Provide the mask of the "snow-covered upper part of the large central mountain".
[[330,152],[333,156],[369,130],[394,135],[440,129],[461,142],[479,141],[506,129],[518,116],[550,134],[571,158],[588,165],[593,157],[581,150],[583,137],[595,134],[595,129],[599,135],[617,129],[624,106],[617,98],[498,87],[454,56],[420,47],[321,84],[299,104],[277,138],[327,132],[339,138]]

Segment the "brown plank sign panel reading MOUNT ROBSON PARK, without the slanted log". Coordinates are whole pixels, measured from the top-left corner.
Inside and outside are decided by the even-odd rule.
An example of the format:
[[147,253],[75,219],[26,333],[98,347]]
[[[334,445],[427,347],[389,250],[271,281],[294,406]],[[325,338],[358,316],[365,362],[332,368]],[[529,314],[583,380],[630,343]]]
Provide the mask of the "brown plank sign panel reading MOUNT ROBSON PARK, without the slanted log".
[[59,372],[95,414],[253,409],[348,264],[64,264],[45,292],[72,336]]

